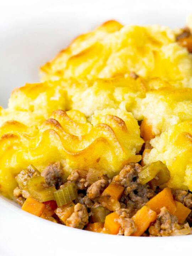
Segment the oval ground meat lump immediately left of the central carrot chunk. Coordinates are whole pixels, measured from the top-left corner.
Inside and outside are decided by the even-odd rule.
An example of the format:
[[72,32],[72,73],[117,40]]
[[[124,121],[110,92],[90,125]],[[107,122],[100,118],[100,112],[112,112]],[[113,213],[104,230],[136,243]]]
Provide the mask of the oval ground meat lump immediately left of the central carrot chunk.
[[94,182],[88,189],[87,189],[87,196],[97,201],[98,197],[100,197],[101,193],[105,189],[105,187],[108,185],[108,181],[105,179],[98,180]]

